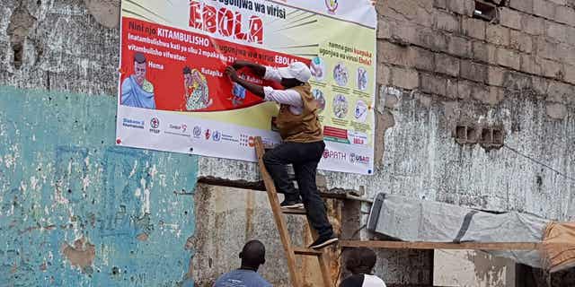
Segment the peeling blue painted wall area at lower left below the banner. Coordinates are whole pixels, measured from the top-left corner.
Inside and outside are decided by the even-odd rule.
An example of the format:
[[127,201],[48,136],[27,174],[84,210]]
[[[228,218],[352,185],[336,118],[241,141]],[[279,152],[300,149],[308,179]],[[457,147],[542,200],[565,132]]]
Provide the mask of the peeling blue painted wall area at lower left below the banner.
[[115,146],[115,115],[109,96],[0,87],[0,286],[184,282],[197,158]]

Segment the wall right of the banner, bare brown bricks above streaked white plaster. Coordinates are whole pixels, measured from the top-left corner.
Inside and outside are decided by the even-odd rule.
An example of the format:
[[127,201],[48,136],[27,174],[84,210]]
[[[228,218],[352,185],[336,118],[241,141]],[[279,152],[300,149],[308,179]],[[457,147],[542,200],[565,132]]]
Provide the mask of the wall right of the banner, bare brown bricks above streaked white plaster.
[[575,10],[496,2],[491,22],[473,18],[472,0],[378,2],[377,127],[391,127],[367,190],[568,220]]

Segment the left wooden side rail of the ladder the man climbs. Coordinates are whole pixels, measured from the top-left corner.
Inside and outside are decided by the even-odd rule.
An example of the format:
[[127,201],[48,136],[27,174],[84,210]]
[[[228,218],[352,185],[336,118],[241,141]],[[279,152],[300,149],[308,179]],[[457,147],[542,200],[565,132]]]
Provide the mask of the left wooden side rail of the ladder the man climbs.
[[284,246],[284,251],[286,252],[286,259],[288,259],[288,270],[289,277],[291,279],[292,286],[300,287],[302,286],[302,281],[300,280],[299,274],[297,272],[296,266],[296,254],[291,245],[291,239],[289,238],[288,225],[284,219],[284,215],[281,212],[281,206],[279,206],[278,193],[276,192],[276,186],[273,183],[273,179],[270,177],[268,170],[266,170],[263,164],[263,154],[265,153],[263,149],[263,143],[261,143],[261,137],[255,138],[255,151],[258,155],[258,163],[261,170],[261,178],[266,187],[268,193],[268,199],[270,200],[271,211],[273,213],[273,218],[276,221],[276,226],[279,231],[279,239]]

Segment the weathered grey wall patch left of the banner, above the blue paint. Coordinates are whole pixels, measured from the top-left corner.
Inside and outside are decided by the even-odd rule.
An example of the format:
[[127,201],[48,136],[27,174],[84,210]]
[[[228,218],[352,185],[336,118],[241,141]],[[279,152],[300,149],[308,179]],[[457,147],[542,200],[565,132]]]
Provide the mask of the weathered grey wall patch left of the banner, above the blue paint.
[[[2,1],[0,83],[115,96],[118,17],[119,1]],[[110,29],[99,19],[116,22],[109,23]]]

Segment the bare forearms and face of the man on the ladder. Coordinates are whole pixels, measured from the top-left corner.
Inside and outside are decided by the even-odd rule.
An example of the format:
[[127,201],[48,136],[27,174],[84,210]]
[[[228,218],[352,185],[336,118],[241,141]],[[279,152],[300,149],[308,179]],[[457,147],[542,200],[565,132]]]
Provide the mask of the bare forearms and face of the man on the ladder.
[[[259,84],[256,83],[250,83],[246,80],[243,80],[242,78],[240,78],[240,76],[237,75],[237,70],[242,69],[243,67],[248,67],[252,70],[253,74],[257,75],[258,77],[263,77],[264,74],[266,74],[266,67],[263,65],[259,65],[259,64],[255,64],[255,63],[251,63],[251,62],[247,62],[247,61],[242,61],[242,60],[238,60],[235,61],[233,65],[230,65],[228,67],[226,67],[226,74],[228,77],[230,77],[230,80],[232,80],[235,83],[239,83],[240,85],[242,85],[245,90],[247,91],[251,91],[252,94],[260,97],[261,99],[265,98],[265,95],[263,93],[263,87]],[[299,85],[302,85],[304,83],[301,83],[299,81],[297,81],[296,79],[281,79],[280,84],[286,88],[293,88]]]

